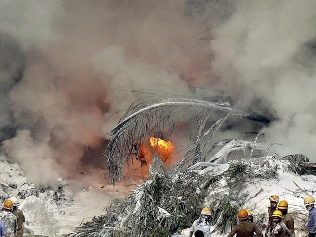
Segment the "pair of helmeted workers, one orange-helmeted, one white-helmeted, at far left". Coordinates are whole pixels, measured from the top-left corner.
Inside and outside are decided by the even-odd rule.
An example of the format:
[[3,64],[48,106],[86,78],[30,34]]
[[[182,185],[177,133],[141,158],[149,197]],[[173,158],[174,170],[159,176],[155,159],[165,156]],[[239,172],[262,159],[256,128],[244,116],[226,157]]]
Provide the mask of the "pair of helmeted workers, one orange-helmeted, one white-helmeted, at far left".
[[0,237],[23,236],[25,218],[18,206],[17,197],[11,197],[4,202],[3,209],[0,211]]

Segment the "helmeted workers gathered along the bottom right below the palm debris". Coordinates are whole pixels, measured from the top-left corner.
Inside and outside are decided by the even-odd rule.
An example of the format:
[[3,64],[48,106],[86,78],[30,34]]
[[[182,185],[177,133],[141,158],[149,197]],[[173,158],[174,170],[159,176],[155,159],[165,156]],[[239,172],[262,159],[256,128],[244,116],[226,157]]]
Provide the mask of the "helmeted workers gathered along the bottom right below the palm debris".
[[[270,206],[268,207],[268,224],[261,224],[265,229],[265,237],[294,237],[294,220],[288,213],[288,203],[285,200],[279,202],[277,195],[269,197]],[[301,230],[308,230],[309,237],[316,237],[316,208],[315,200],[308,196],[304,199],[304,206],[309,210],[309,218],[306,226]],[[203,208],[200,217],[195,220],[190,229],[189,236],[192,237],[211,237],[211,210]],[[261,230],[253,223],[253,214],[251,210],[241,209],[238,211],[239,224],[236,225],[228,234],[228,237],[253,237],[254,233],[258,237],[263,237]],[[178,233],[178,226],[171,225],[171,237],[183,237]]]

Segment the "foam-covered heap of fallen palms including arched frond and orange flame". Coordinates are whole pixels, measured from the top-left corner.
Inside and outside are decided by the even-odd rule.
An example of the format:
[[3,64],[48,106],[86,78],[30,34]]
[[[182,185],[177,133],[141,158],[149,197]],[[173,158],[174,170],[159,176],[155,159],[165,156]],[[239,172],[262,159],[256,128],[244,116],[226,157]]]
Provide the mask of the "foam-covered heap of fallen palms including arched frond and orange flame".
[[[270,194],[271,181],[278,180],[278,185],[284,187],[280,178],[283,173],[294,180],[314,171],[307,166],[308,158],[304,155],[279,157],[269,154],[269,148],[257,139],[272,118],[237,107],[238,103],[232,106],[230,97],[224,93],[202,99],[134,102],[109,132],[111,140],[104,155],[113,183],[120,179],[126,164],[128,168],[133,158],[141,167],[150,164],[148,181],[125,200],[116,198],[104,215],[94,217],[66,237],[169,236],[172,223],[177,223],[182,230],[191,227],[203,206],[209,206],[213,213],[211,225],[215,237],[231,230],[237,223],[237,211],[241,207],[257,213],[257,224],[265,223],[267,210],[260,202]],[[225,124],[232,126],[232,121],[238,119],[262,124],[256,126],[259,130],[254,141],[212,142],[215,134],[225,129]],[[176,124],[183,121],[189,128],[197,128],[196,141],[186,147],[185,155],[176,166],[166,167],[165,161],[174,148],[168,139]],[[151,161],[146,160],[150,150],[154,150],[150,153]],[[215,153],[215,150],[218,151]],[[296,201],[306,192],[314,193],[312,189],[295,188],[288,187],[284,192],[299,199]],[[300,220],[305,218],[300,208],[292,213]],[[185,231],[183,233],[185,235]]]

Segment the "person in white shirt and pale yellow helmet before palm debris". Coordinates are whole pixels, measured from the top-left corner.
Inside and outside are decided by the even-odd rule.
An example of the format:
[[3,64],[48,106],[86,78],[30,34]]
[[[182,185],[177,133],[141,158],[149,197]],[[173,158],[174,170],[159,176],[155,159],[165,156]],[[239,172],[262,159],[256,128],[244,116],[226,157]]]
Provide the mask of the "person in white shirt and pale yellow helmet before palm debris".
[[193,222],[189,237],[192,237],[193,233],[198,230],[203,231],[205,237],[211,237],[211,216],[211,210],[208,207],[204,207],[200,217]]

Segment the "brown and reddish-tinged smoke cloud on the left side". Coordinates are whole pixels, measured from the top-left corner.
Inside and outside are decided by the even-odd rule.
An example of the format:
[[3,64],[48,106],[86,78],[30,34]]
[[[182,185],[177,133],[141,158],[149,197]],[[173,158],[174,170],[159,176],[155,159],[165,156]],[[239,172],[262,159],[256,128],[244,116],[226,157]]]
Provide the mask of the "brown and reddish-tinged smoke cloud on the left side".
[[1,48],[0,128],[14,130],[3,133],[2,152],[32,182],[104,162],[104,134],[120,117],[110,115],[143,96],[121,90],[186,92],[206,78],[203,45],[192,50],[205,26],[183,16],[180,0],[0,3],[0,48],[2,39],[12,45]]

